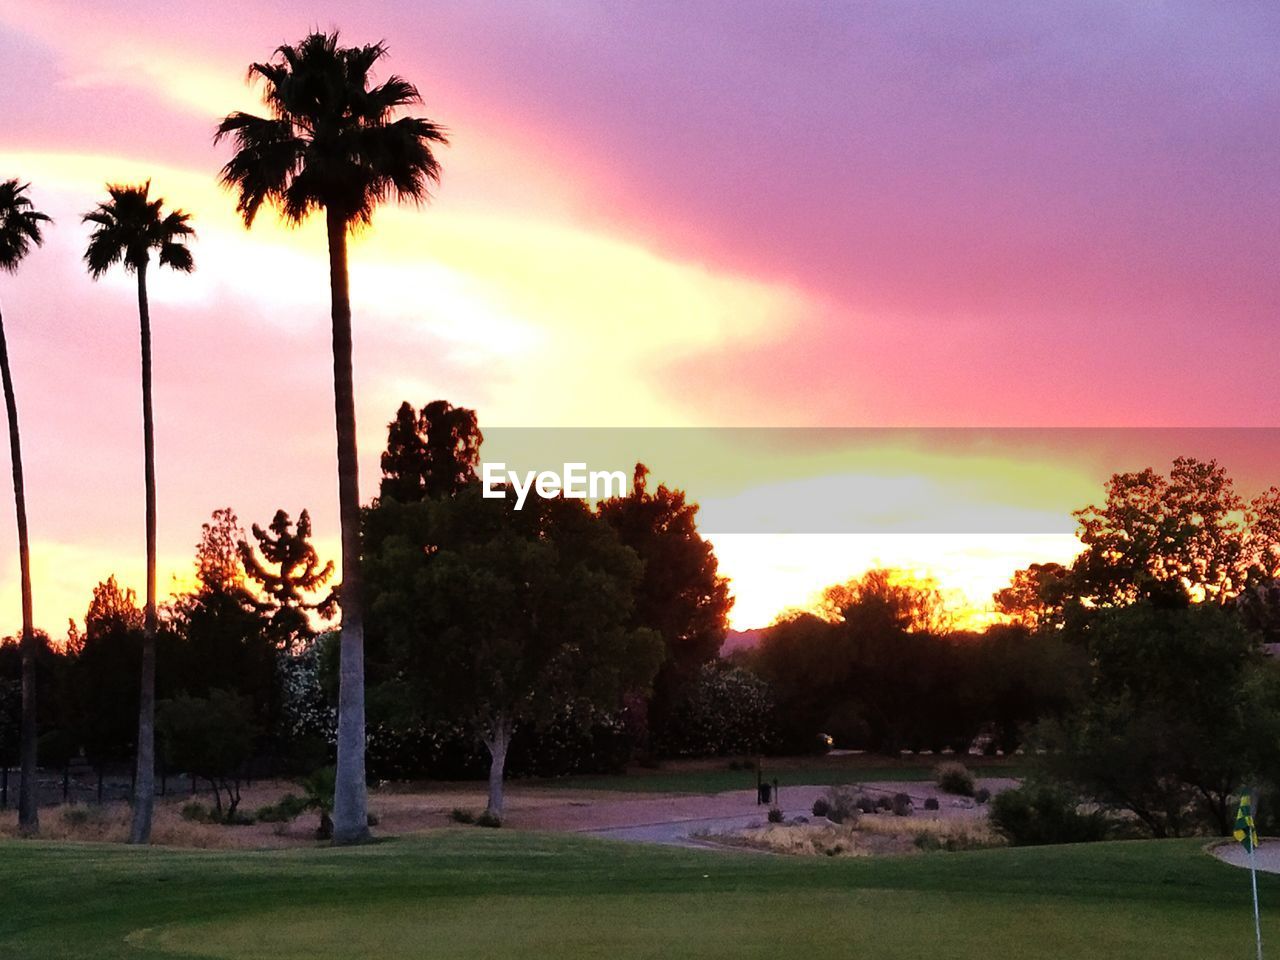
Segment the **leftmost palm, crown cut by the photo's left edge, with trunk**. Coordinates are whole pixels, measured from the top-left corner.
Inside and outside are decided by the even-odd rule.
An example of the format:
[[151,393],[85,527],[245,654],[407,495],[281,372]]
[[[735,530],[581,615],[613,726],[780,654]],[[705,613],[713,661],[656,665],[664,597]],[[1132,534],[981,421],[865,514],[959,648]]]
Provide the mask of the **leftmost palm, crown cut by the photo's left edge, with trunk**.
[[[15,273],[18,264],[44,242],[41,224],[51,223],[27,198],[31,184],[0,183],[0,270]],[[22,483],[22,445],[18,443],[18,403],[9,374],[9,346],[0,316],[0,379],[9,415],[9,457],[13,461],[13,503],[18,512],[18,568],[22,579],[22,783],[18,787],[18,827],[27,833],[40,829],[36,797],[36,654],[38,641],[31,622],[31,548],[27,540],[27,492]]]

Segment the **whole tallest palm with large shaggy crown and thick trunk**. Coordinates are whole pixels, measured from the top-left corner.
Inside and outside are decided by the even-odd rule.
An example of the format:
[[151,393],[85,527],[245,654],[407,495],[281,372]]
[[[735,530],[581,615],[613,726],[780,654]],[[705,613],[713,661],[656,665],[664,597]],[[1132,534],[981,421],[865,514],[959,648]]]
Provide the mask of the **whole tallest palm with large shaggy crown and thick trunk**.
[[333,387],[338,431],[338,507],[342,524],[342,653],[338,695],[338,767],[334,787],[334,842],[369,836],[365,795],[365,627],[360,568],[360,483],[356,462],[356,404],[351,374],[351,300],[347,233],[367,227],[374,209],[394,197],[420,204],[439,183],[434,143],[444,131],[428,119],[396,118],[420,104],[417,88],[401,77],[370,86],[383,44],[344,47],[337,33],[311,33],[276,49],[271,63],[256,63],[269,116],[233,113],[214,141],[230,137],[236,155],[221,170],[238,193],[246,227],[264,202],[298,224],[324,210],[329,234],[333,315]]

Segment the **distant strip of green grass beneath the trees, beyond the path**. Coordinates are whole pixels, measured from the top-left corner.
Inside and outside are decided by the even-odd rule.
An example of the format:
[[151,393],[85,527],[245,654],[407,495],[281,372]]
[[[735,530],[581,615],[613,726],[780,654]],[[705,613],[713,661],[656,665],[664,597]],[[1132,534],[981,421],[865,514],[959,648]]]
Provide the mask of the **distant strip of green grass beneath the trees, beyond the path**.
[[[899,762],[861,754],[765,758],[762,771],[771,782],[777,777],[781,787],[870,783],[884,780],[932,781],[937,764],[950,759],[957,758],[911,756]],[[963,759],[975,777],[1023,777],[1027,772],[1025,764],[1016,760],[959,759]],[[660,769],[636,768],[616,776],[563,777],[544,781],[539,786],[649,794],[721,794],[726,790],[755,790],[755,771],[731,771],[724,760],[714,765],[705,762],[682,765],[677,762]]]

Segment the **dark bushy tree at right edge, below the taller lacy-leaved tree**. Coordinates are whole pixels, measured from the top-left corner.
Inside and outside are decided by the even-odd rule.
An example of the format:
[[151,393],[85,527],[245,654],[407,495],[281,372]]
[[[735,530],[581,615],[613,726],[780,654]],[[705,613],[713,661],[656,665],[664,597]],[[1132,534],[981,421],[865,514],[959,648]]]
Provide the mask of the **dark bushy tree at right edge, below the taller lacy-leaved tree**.
[[1240,786],[1280,776],[1280,668],[1257,635],[1230,608],[1149,602],[1083,634],[1087,692],[1042,726],[1048,769],[1153,836],[1229,832]]

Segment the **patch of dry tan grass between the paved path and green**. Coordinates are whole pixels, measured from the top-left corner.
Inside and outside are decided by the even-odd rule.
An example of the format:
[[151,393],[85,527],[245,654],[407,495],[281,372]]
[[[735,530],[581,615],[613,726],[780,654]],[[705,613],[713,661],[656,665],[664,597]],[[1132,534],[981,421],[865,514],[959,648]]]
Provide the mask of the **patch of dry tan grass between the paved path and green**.
[[877,856],[922,850],[975,850],[1000,846],[986,819],[867,815],[856,824],[769,824],[737,833],[705,833],[700,840],[787,856]]

